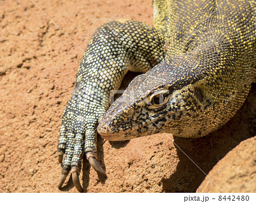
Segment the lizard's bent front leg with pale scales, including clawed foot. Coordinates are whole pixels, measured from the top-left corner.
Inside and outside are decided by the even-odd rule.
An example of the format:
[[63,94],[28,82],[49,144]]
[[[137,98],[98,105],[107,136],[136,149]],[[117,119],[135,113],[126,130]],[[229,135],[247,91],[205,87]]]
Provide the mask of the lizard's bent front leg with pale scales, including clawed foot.
[[79,181],[83,152],[96,171],[106,176],[97,163],[98,122],[109,107],[109,93],[118,89],[127,71],[147,72],[164,60],[164,39],[154,27],[135,20],[106,23],[92,36],[82,58],[76,88],[65,107],[58,144],[63,175],[69,171],[82,192]]

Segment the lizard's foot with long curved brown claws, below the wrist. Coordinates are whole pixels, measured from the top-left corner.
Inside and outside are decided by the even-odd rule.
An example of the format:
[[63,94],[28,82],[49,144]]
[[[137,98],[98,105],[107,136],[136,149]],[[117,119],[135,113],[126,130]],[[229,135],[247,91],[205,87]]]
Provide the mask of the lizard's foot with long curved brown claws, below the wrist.
[[71,171],[75,187],[79,192],[84,192],[79,180],[84,152],[86,159],[98,175],[106,177],[106,173],[97,161],[97,115],[94,117],[92,114],[81,115],[80,113],[83,111],[77,110],[77,105],[74,103],[73,101],[68,103],[60,127],[58,160],[63,170],[58,187],[60,189],[63,186],[69,171]]

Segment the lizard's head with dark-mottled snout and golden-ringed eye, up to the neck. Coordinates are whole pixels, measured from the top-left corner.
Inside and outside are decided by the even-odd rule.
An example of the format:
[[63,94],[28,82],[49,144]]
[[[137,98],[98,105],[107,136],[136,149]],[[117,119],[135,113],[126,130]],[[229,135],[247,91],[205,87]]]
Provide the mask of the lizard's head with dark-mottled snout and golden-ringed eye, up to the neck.
[[164,61],[135,77],[101,119],[102,138],[127,140],[162,131],[187,138],[208,134],[203,75],[197,74],[198,65],[185,64]]

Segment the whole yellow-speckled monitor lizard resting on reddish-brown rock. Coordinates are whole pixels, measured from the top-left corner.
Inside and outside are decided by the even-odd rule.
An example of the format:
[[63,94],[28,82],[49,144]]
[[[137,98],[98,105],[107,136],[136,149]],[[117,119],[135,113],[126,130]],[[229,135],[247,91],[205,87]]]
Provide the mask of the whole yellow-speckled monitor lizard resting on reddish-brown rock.
[[[155,28],[125,19],[98,28],[63,115],[58,151],[59,161],[64,153],[65,159],[59,187],[72,170],[82,192],[83,152],[105,175],[96,161],[98,123],[99,134],[109,140],[160,129],[195,138],[233,117],[256,78],[256,4],[223,1],[154,1]],[[110,90],[119,88],[129,70],[144,74],[105,113]]]

